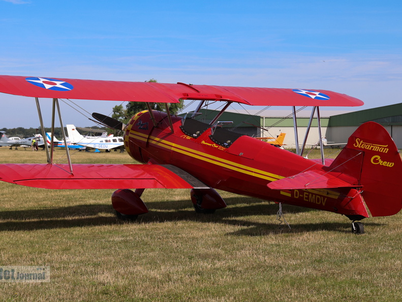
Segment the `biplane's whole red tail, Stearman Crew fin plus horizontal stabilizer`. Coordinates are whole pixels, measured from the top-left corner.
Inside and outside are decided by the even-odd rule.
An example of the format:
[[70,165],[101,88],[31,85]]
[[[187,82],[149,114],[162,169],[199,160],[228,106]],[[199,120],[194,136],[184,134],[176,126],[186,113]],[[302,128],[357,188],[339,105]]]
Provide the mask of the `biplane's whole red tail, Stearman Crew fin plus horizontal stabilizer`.
[[391,216],[402,208],[400,171],[402,160],[387,130],[367,122],[349,137],[330,166],[307,170],[267,186],[273,190],[356,189],[372,216]]

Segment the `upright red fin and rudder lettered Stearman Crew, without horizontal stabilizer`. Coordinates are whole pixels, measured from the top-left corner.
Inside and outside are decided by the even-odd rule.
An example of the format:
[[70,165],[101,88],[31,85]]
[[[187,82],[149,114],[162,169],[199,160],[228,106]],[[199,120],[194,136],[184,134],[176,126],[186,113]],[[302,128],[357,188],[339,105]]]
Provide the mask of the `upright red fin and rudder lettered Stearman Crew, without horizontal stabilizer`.
[[402,208],[402,161],[387,130],[374,122],[361,125],[329,166],[358,180],[372,216],[391,216]]

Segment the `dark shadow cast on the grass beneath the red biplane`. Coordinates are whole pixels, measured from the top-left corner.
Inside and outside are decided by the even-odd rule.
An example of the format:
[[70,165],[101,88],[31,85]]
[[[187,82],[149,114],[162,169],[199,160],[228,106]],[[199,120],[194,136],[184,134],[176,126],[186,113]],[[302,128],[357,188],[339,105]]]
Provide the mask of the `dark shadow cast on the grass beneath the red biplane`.
[[[228,233],[237,236],[259,236],[272,233],[314,232],[332,230],[343,233],[351,232],[351,224],[345,223],[306,223],[291,224],[289,230],[286,224],[282,226],[276,220],[279,206],[267,201],[245,198],[226,198],[229,205],[225,209],[217,210],[214,214],[196,214],[192,209],[191,201],[166,201],[149,203],[149,213],[139,216],[134,224],[164,223],[169,221],[195,221],[205,223],[222,223],[235,226],[244,226],[241,230]],[[191,208],[190,208],[191,207]],[[315,209],[285,205],[284,213],[289,220],[290,215],[304,212],[314,212]],[[54,228],[73,228],[83,226],[113,225],[126,223],[117,220],[111,204],[87,204],[66,207],[52,207],[44,209],[11,210],[0,212],[0,231],[38,230]],[[104,216],[102,214],[107,214]],[[253,222],[245,219],[249,216],[266,216],[267,222]],[[244,218],[244,219],[242,219]],[[5,221],[6,220],[6,221]],[[367,225],[379,225],[367,223]]]

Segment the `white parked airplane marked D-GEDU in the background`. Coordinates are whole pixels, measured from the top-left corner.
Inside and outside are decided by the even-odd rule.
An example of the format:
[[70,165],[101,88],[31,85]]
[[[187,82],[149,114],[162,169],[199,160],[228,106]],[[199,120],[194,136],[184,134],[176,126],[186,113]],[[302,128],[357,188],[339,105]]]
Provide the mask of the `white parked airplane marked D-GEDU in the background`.
[[83,136],[74,125],[66,125],[70,141],[74,144],[94,149],[116,149],[124,147],[124,140],[120,136]]

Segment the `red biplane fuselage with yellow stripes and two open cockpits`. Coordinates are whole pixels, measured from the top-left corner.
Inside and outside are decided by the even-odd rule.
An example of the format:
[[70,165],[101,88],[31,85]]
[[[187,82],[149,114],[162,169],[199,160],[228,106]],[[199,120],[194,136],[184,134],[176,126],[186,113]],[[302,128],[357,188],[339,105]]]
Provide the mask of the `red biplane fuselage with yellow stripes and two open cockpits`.
[[164,112],[148,111],[130,120],[125,147],[134,159],[148,164],[174,165],[214,189],[265,200],[368,217],[363,202],[352,199],[356,189],[271,190],[267,184],[310,169],[316,161],[255,138],[235,134],[193,119],[172,116],[173,131]]

